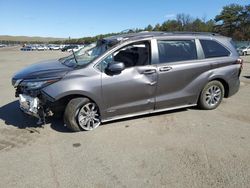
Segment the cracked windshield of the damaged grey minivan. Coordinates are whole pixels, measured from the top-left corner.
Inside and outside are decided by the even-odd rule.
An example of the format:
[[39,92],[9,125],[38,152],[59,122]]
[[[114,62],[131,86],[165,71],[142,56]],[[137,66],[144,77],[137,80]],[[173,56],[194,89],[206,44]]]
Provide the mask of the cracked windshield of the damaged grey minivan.
[[59,59],[64,65],[77,67],[88,65],[95,58],[107,51],[108,45],[103,42],[91,43],[80,50],[73,52],[70,56]]

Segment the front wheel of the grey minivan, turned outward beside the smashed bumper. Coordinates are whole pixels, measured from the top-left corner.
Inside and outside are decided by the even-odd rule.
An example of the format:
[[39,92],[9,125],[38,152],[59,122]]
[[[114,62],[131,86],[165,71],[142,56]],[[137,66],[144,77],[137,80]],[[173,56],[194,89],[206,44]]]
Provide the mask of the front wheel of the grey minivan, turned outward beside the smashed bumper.
[[74,132],[96,129],[101,124],[97,105],[83,97],[72,99],[65,109],[64,123]]

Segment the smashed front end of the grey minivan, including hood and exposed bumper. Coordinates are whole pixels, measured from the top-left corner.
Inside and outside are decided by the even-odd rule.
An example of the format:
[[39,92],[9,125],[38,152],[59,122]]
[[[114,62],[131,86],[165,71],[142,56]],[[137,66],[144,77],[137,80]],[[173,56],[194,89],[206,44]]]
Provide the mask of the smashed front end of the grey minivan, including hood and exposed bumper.
[[45,118],[53,115],[54,110],[51,109],[55,101],[43,89],[61,80],[72,70],[74,67],[66,66],[60,60],[48,60],[15,73],[11,82],[16,89],[15,96],[19,98],[21,110],[37,117],[39,124],[45,124]]

